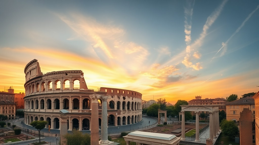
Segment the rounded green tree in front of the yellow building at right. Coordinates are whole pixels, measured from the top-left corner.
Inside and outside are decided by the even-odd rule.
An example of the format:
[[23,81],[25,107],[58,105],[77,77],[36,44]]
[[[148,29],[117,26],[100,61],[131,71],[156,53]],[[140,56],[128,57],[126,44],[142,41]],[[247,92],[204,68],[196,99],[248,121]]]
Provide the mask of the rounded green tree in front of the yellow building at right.
[[222,134],[228,138],[233,138],[239,134],[238,126],[233,120],[222,120],[220,123]]

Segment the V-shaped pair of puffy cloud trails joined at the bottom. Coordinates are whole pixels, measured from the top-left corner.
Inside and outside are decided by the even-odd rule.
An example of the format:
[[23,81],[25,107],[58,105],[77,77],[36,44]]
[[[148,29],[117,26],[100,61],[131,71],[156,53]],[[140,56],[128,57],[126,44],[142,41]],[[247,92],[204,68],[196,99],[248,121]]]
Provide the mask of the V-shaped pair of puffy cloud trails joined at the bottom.
[[[223,10],[225,4],[226,4],[227,0],[224,0],[219,7],[212,12],[212,14],[207,18],[207,21],[205,22],[205,25],[203,26],[203,31],[200,34],[200,37],[198,39],[195,40],[195,42],[191,45],[189,45],[190,41],[187,40],[191,40],[189,39],[190,33],[191,31],[188,28],[191,28],[189,25],[186,25],[185,22],[185,42],[186,42],[186,56],[184,57],[184,60],[182,61],[182,63],[185,65],[186,68],[193,68],[193,70],[200,70],[203,67],[201,66],[200,62],[197,62],[196,65],[192,63],[192,59],[200,59],[201,55],[200,53],[198,53],[198,51],[194,52],[193,55],[191,55],[191,51],[193,50],[197,50],[200,46],[202,46],[203,41],[205,36],[207,35],[207,30],[210,28],[210,26],[214,23],[214,21],[218,18],[218,16],[220,15],[221,11]],[[187,19],[188,14],[191,16],[192,15],[192,9],[189,9],[188,11],[185,11],[185,21]],[[187,10],[187,9],[186,9]],[[186,39],[186,36],[188,39]]]

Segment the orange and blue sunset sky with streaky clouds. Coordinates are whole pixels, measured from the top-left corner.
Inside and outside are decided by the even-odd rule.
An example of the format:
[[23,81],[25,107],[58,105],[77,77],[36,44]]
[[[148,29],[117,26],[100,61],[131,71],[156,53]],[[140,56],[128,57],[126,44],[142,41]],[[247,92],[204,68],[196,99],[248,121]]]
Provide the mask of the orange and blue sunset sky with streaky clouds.
[[0,1],[0,91],[24,67],[190,101],[259,91],[259,1]]

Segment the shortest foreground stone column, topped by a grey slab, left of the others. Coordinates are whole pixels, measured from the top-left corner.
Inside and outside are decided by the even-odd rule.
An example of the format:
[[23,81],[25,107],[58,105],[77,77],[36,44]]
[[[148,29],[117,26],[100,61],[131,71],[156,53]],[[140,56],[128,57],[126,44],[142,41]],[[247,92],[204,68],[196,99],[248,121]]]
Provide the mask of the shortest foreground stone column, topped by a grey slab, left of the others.
[[61,113],[59,115],[59,118],[60,118],[60,143],[61,143],[61,145],[66,145],[67,140],[64,138],[64,135],[67,134],[67,119],[68,119],[68,116],[66,114]]

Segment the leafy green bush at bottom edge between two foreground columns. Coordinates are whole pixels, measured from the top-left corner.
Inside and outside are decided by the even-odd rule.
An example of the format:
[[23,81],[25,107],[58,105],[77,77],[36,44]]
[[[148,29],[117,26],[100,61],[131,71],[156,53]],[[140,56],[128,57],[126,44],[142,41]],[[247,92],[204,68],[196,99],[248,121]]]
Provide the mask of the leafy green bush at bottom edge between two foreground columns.
[[90,145],[91,136],[88,133],[82,134],[81,131],[73,129],[71,133],[64,135],[67,145]]

